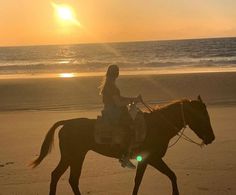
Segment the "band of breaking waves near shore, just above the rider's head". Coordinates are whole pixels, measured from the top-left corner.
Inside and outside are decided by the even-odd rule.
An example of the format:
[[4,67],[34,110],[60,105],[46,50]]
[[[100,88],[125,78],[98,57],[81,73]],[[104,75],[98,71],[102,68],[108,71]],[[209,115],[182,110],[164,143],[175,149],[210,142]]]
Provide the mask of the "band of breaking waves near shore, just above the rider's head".
[[34,62],[33,64],[8,64],[0,66],[0,74],[37,74],[37,73],[61,73],[61,72],[100,72],[105,71],[108,64],[117,64],[123,71],[128,70],[158,70],[163,69],[185,69],[185,68],[221,68],[231,69],[236,67],[235,59],[199,59],[199,60],[159,60],[159,61],[148,61],[148,62],[90,62],[90,63],[63,63],[63,62]]

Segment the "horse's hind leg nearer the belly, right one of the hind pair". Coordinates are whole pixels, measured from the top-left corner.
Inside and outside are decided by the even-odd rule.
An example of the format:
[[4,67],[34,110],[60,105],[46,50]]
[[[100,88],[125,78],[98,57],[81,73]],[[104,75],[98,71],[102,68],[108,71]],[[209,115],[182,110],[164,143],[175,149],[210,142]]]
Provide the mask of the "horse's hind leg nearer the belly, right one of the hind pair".
[[81,195],[79,191],[79,177],[81,174],[81,169],[84,161],[83,156],[79,156],[70,162],[70,178],[69,183],[75,195]]

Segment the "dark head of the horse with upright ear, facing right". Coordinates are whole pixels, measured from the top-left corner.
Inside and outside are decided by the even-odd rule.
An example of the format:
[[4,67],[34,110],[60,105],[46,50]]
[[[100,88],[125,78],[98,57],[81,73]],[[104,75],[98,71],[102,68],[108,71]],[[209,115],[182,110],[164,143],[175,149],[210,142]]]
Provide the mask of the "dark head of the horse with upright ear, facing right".
[[206,105],[201,97],[198,96],[198,100],[190,101],[187,110],[188,126],[203,140],[204,144],[210,144],[215,139],[215,135],[211,127]]

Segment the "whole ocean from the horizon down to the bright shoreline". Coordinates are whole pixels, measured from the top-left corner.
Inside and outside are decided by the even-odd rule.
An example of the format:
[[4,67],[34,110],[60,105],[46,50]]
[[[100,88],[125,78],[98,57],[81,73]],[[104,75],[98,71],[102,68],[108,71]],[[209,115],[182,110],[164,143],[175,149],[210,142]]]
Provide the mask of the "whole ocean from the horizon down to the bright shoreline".
[[0,76],[104,72],[235,71],[236,38],[0,47]]

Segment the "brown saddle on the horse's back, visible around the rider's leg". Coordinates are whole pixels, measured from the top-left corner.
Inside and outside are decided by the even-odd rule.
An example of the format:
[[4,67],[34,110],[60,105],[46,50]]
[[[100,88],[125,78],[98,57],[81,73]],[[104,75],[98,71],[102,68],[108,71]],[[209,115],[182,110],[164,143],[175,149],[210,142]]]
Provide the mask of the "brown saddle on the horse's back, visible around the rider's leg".
[[[146,138],[146,122],[143,112],[136,105],[131,105],[129,114],[132,118],[133,147],[139,146]],[[122,144],[127,129],[119,124],[118,120],[109,120],[106,115],[98,116],[95,123],[94,138],[98,144]]]

